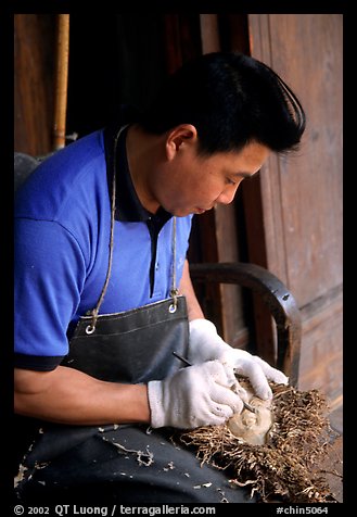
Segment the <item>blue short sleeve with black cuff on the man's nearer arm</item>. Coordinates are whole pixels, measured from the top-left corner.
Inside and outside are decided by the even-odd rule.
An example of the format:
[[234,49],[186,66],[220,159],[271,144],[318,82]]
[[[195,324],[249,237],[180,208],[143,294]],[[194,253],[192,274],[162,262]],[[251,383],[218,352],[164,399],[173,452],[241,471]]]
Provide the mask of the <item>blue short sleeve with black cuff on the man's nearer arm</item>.
[[15,218],[15,366],[49,370],[68,352],[66,331],[86,278],[76,238],[51,220]]

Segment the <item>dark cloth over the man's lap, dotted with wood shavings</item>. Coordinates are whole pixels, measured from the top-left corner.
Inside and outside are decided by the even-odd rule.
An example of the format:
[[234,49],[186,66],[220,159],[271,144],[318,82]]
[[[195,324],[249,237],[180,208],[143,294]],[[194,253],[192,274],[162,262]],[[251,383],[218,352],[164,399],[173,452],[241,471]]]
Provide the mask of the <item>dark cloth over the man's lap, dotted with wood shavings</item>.
[[171,441],[169,429],[141,426],[53,426],[23,461],[16,501],[130,505],[255,503],[243,488],[194,452]]

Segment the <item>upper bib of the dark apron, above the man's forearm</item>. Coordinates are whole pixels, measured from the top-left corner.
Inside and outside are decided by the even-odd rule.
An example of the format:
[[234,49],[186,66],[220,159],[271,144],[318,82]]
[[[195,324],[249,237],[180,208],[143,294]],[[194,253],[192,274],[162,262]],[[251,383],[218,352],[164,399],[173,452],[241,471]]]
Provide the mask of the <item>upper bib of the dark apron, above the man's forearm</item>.
[[111,382],[161,380],[181,368],[173,352],[187,354],[189,340],[184,297],[144,305],[132,311],[78,321],[64,366]]

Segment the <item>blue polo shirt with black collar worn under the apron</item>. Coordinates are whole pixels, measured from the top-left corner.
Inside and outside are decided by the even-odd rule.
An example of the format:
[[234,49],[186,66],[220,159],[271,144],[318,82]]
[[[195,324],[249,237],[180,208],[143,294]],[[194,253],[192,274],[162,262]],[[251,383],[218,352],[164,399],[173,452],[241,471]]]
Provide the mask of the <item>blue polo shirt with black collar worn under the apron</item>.
[[[113,130],[98,130],[37,167],[15,201],[15,366],[51,370],[92,310],[109,265]],[[173,217],[140,204],[126,160],[116,155],[114,254],[100,314],[169,297]],[[192,216],[177,218],[176,275],[182,276]]]

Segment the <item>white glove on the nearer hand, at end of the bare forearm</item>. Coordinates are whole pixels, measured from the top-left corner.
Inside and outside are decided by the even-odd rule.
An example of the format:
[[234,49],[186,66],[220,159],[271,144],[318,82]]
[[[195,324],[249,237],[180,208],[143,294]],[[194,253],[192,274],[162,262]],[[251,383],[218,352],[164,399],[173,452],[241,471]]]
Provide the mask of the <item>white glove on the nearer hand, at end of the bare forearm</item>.
[[218,426],[234,413],[241,413],[241,398],[231,390],[235,384],[232,368],[219,361],[180,369],[164,380],[148,383],[151,426],[194,429]]

